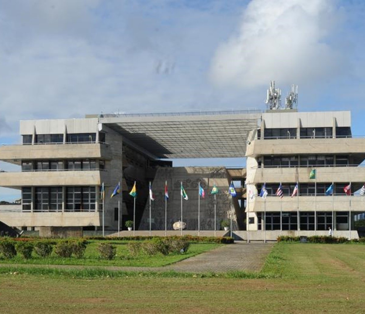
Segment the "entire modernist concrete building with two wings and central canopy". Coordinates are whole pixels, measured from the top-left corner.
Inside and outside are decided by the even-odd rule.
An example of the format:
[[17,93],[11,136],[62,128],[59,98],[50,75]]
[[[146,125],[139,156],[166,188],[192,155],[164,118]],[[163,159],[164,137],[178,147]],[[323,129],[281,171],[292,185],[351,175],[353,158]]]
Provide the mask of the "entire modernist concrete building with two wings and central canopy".
[[[350,120],[348,111],[271,109],[20,121],[22,143],[1,146],[0,160],[18,164],[21,171],[0,172],[0,186],[21,190],[22,202],[0,208],[0,221],[41,235],[100,233],[103,225],[110,233],[118,230],[118,221],[133,219],[137,231],[149,230],[150,224],[152,230],[165,230],[166,221],[173,234],[172,224],[181,218],[183,182],[189,196],[183,221],[189,233],[219,230],[220,221],[233,217],[235,234],[245,240],[328,234],[329,226],[335,236],[356,238],[354,214],[365,206],[353,192],[365,177],[358,167],[365,159],[365,139],[351,136]],[[165,160],[244,161],[245,156],[246,168],[175,168]],[[310,179],[312,170],[315,179]],[[228,194],[231,181],[235,198]],[[111,198],[118,182],[120,197]],[[128,195],[134,182],[135,212]],[[155,194],[151,219],[149,182]],[[200,199],[198,216],[199,183],[207,197]],[[282,198],[275,195],[280,183]],[[326,196],[332,183],[334,193]],[[346,195],[343,188],[350,183]],[[210,195],[213,184],[220,190],[216,202]],[[267,196],[262,198],[264,185]],[[298,193],[291,197],[296,185]],[[119,229],[126,229],[123,223]]]

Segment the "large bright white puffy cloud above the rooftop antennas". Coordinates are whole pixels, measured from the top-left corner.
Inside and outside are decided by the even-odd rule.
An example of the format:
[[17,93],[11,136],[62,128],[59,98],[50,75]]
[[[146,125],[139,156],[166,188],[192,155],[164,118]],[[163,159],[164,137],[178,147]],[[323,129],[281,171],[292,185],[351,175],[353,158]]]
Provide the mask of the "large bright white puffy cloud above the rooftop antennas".
[[331,0],[253,0],[236,34],[220,44],[210,77],[220,86],[252,88],[331,78],[346,70],[336,50],[341,10]]

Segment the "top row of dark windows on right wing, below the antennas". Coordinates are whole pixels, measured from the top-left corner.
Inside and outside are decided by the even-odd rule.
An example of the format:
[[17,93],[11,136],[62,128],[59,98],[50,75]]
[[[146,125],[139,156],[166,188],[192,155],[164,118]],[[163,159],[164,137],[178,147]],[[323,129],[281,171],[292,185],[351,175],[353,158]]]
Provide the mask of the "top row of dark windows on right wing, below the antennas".
[[[295,139],[296,128],[264,129],[264,139]],[[325,139],[333,136],[333,129],[327,128],[300,128],[300,138]],[[257,137],[261,138],[261,129],[257,130]],[[350,127],[336,127],[336,137],[351,137]]]

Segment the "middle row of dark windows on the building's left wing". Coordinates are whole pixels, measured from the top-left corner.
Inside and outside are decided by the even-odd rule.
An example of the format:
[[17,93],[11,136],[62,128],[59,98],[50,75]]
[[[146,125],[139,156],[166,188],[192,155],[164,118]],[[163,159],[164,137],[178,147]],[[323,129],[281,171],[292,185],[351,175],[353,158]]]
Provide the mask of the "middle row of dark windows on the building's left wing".
[[22,171],[33,170],[94,170],[105,169],[104,160],[99,160],[97,167],[96,160],[39,160],[39,161],[22,161]]

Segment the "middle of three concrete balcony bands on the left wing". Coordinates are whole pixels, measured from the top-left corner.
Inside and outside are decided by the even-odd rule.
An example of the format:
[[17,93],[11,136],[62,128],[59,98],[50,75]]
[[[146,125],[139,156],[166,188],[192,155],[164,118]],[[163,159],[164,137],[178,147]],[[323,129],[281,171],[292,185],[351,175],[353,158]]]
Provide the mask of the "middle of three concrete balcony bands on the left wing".
[[95,186],[108,182],[110,174],[101,170],[0,172],[0,186]]

